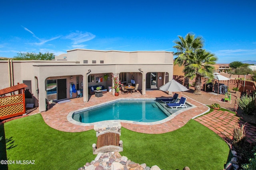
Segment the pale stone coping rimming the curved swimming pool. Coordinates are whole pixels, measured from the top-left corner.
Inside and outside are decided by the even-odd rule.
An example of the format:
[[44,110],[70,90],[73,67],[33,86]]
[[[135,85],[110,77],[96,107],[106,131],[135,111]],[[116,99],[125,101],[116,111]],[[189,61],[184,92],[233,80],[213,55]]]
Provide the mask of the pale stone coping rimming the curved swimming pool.
[[180,113],[182,113],[184,111],[187,111],[187,110],[190,110],[190,109],[193,109],[193,108],[197,107],[197,106],[194,106],[193,104],[191,104],[190,102],[186,102],[191,107],[182,108],[181,110],[176,111],[175,113],[166,117],[165,119],[162,119],[160,121],[154,121],[154,122],[137,122],[137,121],[128,121],[128,120],[106,120],[106,121],[98,121],[98,122],[94,122],[94,123],[82,123],[82,122],[75,121],[72,118],[72,115],[73,115],[74,112],[78,112],[78,111],[82,111],[84,109],[90,109],[90,108],[94,108],[94,107],[100,107],[102,105],[107,105],[107,104],[111,104],[111,103],[114,103],[114,102],[119,102],[119,101],[122,101],[122,100],[156,100],[156,99],[157,98],[118,98],[118,99],[115,99],[115,100],[104,102],[102,104],[96,104],[96,105],[93,105],[93,106],[84,107],[84,108],[81,108],[81,109],[70,111],[70,113],[68,113],[68,115],[67,115],[67,120],[70,123],[75,124],[75,125],[95,126],[94,129],[96,127],[99,128],[99,127],[106,126],[106,125],[108,125],[108,127],[110,127],[110,126],[118,127],[118,126],[121,126],[121,123],[132,123],[132,124],[136,124],[136,125],[158,125],[158,124],[162,124],[162,123],[166,123],[167,121],[170,121],[171,119],[176,117],[176,115],[179,115]]

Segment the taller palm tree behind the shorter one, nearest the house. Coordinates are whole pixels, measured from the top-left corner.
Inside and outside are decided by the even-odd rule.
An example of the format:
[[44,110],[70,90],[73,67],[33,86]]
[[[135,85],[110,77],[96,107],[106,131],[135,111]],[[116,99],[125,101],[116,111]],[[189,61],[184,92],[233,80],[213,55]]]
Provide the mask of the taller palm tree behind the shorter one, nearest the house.
[[[204,45],[202,37],[195,38],[195,35],[190,33],[185,36],[185,39],[182,36],[178,37],[179,40],[175,40],[174,43],[176,45],[173,46],[173,48],[177,50],[177,52],[174,53],[174,56],[177,56],[177,58],[174,59],[174,65],[188,66],[188,58],[190,54],[195,53],[196,50],[201,49]],[[185,74],[184,86],[189,88],[189,78],[186,76],[188,73],[185,70],[183,70],[183,72]]]

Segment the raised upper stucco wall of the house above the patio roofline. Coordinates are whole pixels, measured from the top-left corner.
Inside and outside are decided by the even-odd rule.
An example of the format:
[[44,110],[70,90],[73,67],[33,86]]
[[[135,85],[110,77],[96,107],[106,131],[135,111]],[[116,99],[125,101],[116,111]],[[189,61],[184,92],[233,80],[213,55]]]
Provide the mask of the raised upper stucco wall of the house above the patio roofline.
[[92,64],[96,60],[96,64],[104,61],[104,64],[152,64],[152,63],[173,63],[173,52],[166,51],[96,51],[87,49],[69,50],[67,54],[56,56],[56,60],[63,60],[66,57],[67,61],[84,60],[88,64]]

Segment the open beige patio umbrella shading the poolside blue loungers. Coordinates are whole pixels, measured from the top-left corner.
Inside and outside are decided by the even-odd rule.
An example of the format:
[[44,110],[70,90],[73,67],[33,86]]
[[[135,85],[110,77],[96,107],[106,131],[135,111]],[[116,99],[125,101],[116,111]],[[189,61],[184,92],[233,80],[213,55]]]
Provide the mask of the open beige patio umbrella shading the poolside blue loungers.
[[168,91],[168,92],[184,92],[184,91],[188,91],[189,89],[187,89],[185,86],[183,86],[176,80],[172,79],[170,82],[161,86],[159,90]]

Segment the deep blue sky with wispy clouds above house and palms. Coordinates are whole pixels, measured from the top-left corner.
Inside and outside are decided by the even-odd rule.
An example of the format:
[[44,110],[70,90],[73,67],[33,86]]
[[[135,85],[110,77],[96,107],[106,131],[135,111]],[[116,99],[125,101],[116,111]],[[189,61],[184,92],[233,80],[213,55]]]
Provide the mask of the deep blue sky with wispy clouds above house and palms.
[[194,33],[217,63],[256,60],[255,0],[4,0],[0,57],[82,48],[174,51]]

